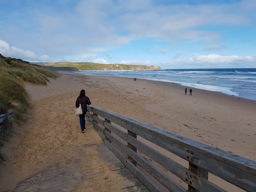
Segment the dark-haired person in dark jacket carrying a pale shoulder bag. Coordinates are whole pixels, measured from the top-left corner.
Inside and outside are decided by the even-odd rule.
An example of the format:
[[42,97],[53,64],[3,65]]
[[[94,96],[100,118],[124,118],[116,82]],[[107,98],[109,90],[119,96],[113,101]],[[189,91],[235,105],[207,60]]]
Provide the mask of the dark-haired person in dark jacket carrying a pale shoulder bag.
[[79,107],[79,104],[80,104],[79,100],[80,99],[81,99],[81,107],[82,107],[83,114],[79,115],[79,119],[80,119],[81,133],[84,133],[84,130],[85,130],[85,114],[87,112],[87,105],[91,105],[91,101],[87,96],[85,96],[85,91],[83,89],[80,91],[80,95],[76,99],[76,108]]

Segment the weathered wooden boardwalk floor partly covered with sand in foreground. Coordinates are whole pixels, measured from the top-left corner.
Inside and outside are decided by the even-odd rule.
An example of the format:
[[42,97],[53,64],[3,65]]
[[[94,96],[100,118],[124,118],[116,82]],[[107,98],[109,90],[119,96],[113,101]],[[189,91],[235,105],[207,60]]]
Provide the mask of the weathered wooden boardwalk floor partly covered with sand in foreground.
[[[149,190],[135,177],[131,171],[129,171],[125,165],[104,145],[97,144],[93,145],[97,148],[97,151],[101,155],[101,158],[109,163],[110,170],[118,173],[117,181],[121,181],[123,186],[117,191],[141,191],[149,192]],[[84,145],[84,150],[81,150],[81,159],[85,155],[90,155],[86,153],[86,147],[91,147]],[[99,170],[88,170],[83,172],[82,168],[79,166],[81,159],[67,159],[65,162],[54,163],[37,173],[32,174],[23,181],[17,184],[15,192],[33,192],[33,191],[82,191],[81,185],[83,182],[92,182],[95,177],[106,172],[106,169],[102,171]],[[88,163],[88,167],[92,164],[98,164],[97,161],[92,161]],[[103,178],[108,181],[108,178]],[[98,189],[98,191],[108,191],[104,188]]]

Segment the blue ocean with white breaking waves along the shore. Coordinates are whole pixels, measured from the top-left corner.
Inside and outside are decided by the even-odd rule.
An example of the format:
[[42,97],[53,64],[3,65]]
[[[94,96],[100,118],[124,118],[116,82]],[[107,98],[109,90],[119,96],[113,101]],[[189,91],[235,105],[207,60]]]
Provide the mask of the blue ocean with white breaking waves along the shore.
[[242,69],[162,69],[154,71],[78,71],[85,75],[130,77],[178,83],[188,88],[217,91],[256,100],[256,68]]

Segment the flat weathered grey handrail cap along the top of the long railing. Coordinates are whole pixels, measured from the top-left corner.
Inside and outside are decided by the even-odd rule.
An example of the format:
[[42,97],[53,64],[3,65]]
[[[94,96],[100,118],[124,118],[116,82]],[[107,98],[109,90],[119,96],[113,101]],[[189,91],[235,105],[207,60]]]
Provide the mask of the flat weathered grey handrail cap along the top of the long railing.
[[[193,151],[196,151],[198,153],[202,153],[208,157],[211,157],[213,159],[219,160],[223,163],[226,163],[228,165],[237,167],[238,169],[241,169],[243,171],[246,171],[248,173],[251,173],[253,175],[256,175],[256,162],[251,160],[251,159],[247,159],[238,155],[235,155],[233,153],[229,153],[226,151],[222,151],[221,149],[215,148],[215,147],[211,147],[209,145],[205,145],[203,143],[199,143],[197,141],[193,141],[190,139],[187,139],[186,137],[182,137],[180,135],[176,135],[174,133],[168,132],[166,130],[163,129],[159,129],[150,125],[147,125],[145,123],[141,123],[138,121],[135,121],[133,119],[127,118],[127,117],[123,117],[121,115],[100,109],[98,107],[93,107],[93,110],[95,113],[101,113],[101,114],[106,114],[104,116],[107,116],[109,118],[107,118],[108,120],[114,122],[114,123],[119,123],[119,121],[123,121],[124,123],[128,123],[131,124],[133,126],[136,126],[138,128],[144,129],[146,131],[149,131],[151,133],[153,133],[154,135],[158,135],[160,137],[163,137],[167,140],[173,141],[177,144],[180,144],[186,148],[190,148]],[[106,118],[106,117],[104,117]],[[122,125],[124,124],[122,123]],[[127,125],[128,125],[127,124]],[[121,125],[121,126],[122,126]],[[122,126],[125,128],[125,126]]]

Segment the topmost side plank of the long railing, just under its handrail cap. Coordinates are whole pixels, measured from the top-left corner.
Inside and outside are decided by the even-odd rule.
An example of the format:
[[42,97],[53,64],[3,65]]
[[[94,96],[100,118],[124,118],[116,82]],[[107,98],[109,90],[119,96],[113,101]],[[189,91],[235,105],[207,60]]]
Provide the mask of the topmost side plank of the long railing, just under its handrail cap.
[[[183,141],[189,141],[186,138],[183,138],[179,135],[176,135],[179,137],[179,142],[174,142],[176,141],[176,137],[171,138],[172,141],[170,141],[170,138],[167,137],[168,139],[165,139],[161,136],[165,136],[164,134],[166,134],[166,131],[164,131],[164,134],[162,133],[162,130],[158,130],[155,127],[146,125],[147,127],[149,126],[152,129],[147,129],[145,127],[141,128],[141,123],[140,122],[136,122],[139,124],[139,127],[137,126],[133,126],[131,123],[134,123],[134,120],[126,118],[126,117],[122,117],[119,116],[117,114],[105,111],[105,110],[98,110],[96,108],[93,109],[95,113],[100,114],[101,116],[104,116],[104,118],[108,118],[110,121],[119,124],[119,125],[123,125],[123,127],[127,128],[128,130],[132,130],[133,132],[135,132],[137,135],[142,136],[143,138],[157,144],[160,147],[163,147],[165,149],[167,149],[168,151],[182,157],[183,159],[189,158],[189,161],[192,163],[193,160],[193,164],[194,165],[198,165],[201,166],[202,168],[206,169],[207,171],[213,173],[214,175],[221,177],[222,179],[238,186],[241,187],[242,189],[248,190],[248,191],[253,191],[253,189],[255,188],[255,182],[254,180],[256,179],[256,177],[254,175],[248,174],[247,172],[241,172],[241,170],[239,170],[236,167],[233,167],[231,165],[227,165],[217,159],[213,159],[211,157],[208,157],[204,154],[198,153],[196,151],[191,151],[191,148],[187,148],[183,145],[180,145],[179,142],[181,142],[180,140],[182,140],[182,144],[185,143],[185,145],[189,145],[190,143],[186,143]],[[105,112],[107,112],[106,114],[104,114]],[[115,115],[115,116],[113,116]],[[119,117],[119,118],[118,118]],[[124,121],[125,120],[125,121]],[[120,123],[120,121],[123,121]],[[129,123],[130,122],[130,123]],[[125,126],[124,126],[125,125]],[[158,135],[155,135],[155,132],[160,132],[160,134],[158,133]],[[168,132],[169,133],[169,132]],[[175,134],[174,134],[175,135]],[[169,136],[169,135],[168,135]],[[181,138],[181,139],[180,139]],[[192,141],[192,140],[190,140]],[[196,142],[196,141],[195,141]],[[196,142],[198,143],[198,142]],[[201,143],[199,143],[201,144]],[[204,144],[202,144],[204,145]],[[207,145],[204,145],[206,147],[210,147]],[[192,146],[193,147],[193,146]],[[201,149],[200,149],[201,150]],[[187,151],[189,151],[189,154],[187,154]],[[202,150],[201,150],[202,151]],[[209,151],[209,150],[208,150]],[[207,152],[207,151],[206,151]],[[192,154],[193,153],[193,154]],[[252,164],[252,160],[247,159],[251,162],[250,165]],[[237,162],[236,162],[237,163]],[[240,163],[240,162],[239,162]],[[243,167],[243,163],[240,167]],[[225,171],[223,171],[225,170]],[[229,174],[227,174],[229,173]],[[235,174],[234,174],[235,173]]]

